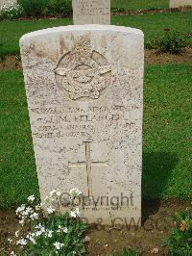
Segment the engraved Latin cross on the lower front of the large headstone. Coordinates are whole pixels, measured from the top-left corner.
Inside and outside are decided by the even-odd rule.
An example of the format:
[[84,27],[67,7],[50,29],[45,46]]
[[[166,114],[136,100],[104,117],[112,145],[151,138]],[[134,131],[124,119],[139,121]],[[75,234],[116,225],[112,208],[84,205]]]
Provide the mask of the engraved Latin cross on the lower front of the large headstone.
[[70,163],[70,167],[77,167],[77,166],[85,166],[86,167],[86,174],[87,174],[87,187],[88,187],[88,196],[92,195],[92,175],[91,175],[91,168],[92,166],[108,166],[108,161],[106,162],[94,162],[91,161],[90,155],[90,141],[84,141],[85,144],[85,162],[77,162],[77,163]]

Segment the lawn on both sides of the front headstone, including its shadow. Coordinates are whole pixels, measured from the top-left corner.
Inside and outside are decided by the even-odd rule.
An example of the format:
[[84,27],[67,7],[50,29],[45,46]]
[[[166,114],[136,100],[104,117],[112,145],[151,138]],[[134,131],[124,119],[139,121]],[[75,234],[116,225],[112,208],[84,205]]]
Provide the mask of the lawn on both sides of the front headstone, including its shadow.
[[[190,64],[148,65],[143,131],[144,198],[191,198]],[[0,71],[0,207],[38,195],[22,71]]]

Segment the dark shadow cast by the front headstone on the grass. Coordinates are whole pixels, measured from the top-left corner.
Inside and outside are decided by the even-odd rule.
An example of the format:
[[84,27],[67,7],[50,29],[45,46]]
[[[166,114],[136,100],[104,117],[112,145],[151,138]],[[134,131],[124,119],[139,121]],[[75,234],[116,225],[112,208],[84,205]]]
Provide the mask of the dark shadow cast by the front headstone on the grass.
[[172,170],[179,163],[179,157],[171,152],[143,154],[142,173],[142,219],[156,214],[160,199],[164,196]]

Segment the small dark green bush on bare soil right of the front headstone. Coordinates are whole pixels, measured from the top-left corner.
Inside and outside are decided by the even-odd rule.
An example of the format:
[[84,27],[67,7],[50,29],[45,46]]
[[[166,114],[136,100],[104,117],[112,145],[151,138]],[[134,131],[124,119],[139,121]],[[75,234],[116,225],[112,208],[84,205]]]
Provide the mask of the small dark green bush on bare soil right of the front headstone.
[[160,53],[180,54],[182,48],[188,45],[187,38],[179,32],[166,28],[162,38],[149,41],[146,46],[149,49],[157,49]]

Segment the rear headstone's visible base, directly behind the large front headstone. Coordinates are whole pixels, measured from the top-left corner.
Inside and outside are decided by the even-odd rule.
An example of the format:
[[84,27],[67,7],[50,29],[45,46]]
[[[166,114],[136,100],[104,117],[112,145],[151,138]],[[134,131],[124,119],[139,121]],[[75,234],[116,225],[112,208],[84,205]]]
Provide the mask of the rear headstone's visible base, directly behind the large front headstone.
[[110,24],[110,0],[73,0],[75,25]]

